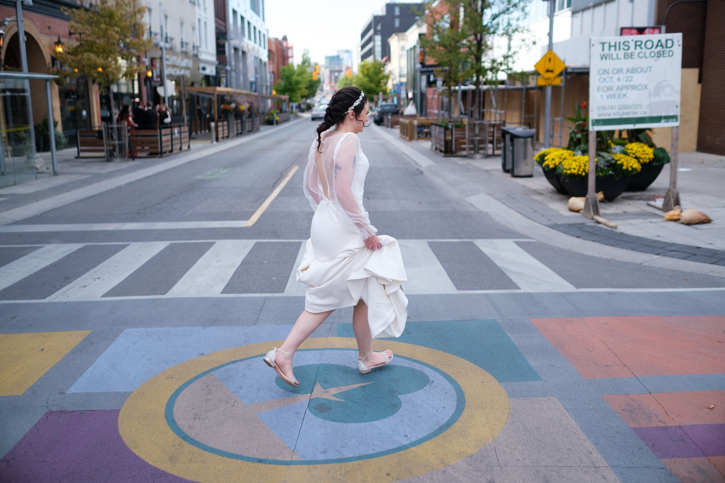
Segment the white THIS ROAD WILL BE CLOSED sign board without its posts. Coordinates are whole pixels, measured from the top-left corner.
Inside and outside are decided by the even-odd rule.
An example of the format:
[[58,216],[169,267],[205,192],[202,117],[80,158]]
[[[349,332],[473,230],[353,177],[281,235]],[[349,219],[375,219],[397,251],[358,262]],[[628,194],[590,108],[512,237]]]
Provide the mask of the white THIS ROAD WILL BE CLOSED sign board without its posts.
[[590,48],[592,130],[679,126],[682,33],[596,37]]

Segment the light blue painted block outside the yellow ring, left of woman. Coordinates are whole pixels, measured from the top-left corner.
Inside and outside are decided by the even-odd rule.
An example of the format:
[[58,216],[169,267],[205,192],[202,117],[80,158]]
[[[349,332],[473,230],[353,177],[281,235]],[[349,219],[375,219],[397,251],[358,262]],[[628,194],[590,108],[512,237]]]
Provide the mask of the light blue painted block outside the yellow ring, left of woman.
[[133,391],[176,364],[218,350],[284,339],[290,329],[290,325],[125,329],[68,392]]

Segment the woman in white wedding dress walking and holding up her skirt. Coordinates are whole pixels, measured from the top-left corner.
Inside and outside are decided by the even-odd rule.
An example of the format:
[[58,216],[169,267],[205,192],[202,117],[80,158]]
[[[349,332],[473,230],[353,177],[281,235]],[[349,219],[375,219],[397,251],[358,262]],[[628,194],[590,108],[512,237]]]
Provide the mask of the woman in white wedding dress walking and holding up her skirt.
[[[372,351],[373,338],[399,337],[407,319],[407,280],[395,238],[376,235],[363,207],[368,158],[357,133],[368,122],[368,96],[352,86],[332,96],[317,128],[305,168],[305,196],[312,217],[310,239],[297,281],[308,285],[305,311],[280,348],[265,356],[287,384],[297,387],[292,356],[336,308],[353,306],[357,369],[368,374],[392,361],[391,350]],[[369,125],[369,122],[368,122]]]

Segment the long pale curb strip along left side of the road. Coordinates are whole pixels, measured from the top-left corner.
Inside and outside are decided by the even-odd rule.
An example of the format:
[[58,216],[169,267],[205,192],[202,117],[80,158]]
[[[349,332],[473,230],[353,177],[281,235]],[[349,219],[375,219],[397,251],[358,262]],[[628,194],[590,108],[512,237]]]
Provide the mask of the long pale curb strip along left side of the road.
[[[297,122],[299,122],[300,120],[301,119],[295,119],[286,122],[281,126],[281,128],[284,129],[285,127],[296,125]],[[278,127],[280,126],[278,125]],[[25,218],[35,217],[38,214],[45,213],[46,211],[51,211],[52,209],[65,206],[70,203],[75,203],[75,201],[80,201],[84,198],[95,196],[99,193],[103,193],[104,191],[118,188],[120,185],[125,185],[129,182],[134,182],[142,180],[145,177],[157,175],[158,173],[164,172],[167,169],[173,169],[175,167],[181,166],[182,164],[186,164],[191,161],[196,161],[197,159],[210,156],[211,154],[216,154],[229,148],[234,148],[236,146],[239,146],[240,144],[247,143],[250,140],[261,138],[262,136],[268,135],[269,133],[278,132],[279,129],[269,129],[249,136],[243,136],[239,139],[230,140],[223,143],[217,143],[216,145],[210,144],[209,148],[203,148],[202,150],[194,151],[193,153],[183,154],[176,159],[170,159],[169,161],[156,164],[155,166],[138,169],[125,175],[110,177],[106,180],[94,182],[81,188],[75,188],[74,190],[69,190],[65,193],[59,193],[54,196],[49,196],[48,198],[44,198],[42,200],[31,201],[30,203],[27,203],[25,205],[17,206],[16,208],[0,212],[0,225],[14,223]]]

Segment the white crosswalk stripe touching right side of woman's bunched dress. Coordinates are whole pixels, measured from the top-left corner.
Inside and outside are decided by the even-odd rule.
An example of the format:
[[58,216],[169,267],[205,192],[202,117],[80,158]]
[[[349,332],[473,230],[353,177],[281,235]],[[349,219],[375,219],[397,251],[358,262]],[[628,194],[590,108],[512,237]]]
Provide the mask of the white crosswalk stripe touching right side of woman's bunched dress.
[[398,240],[398,245],[408,277],[403,284],[405,293],[457,292],[426,240]]

